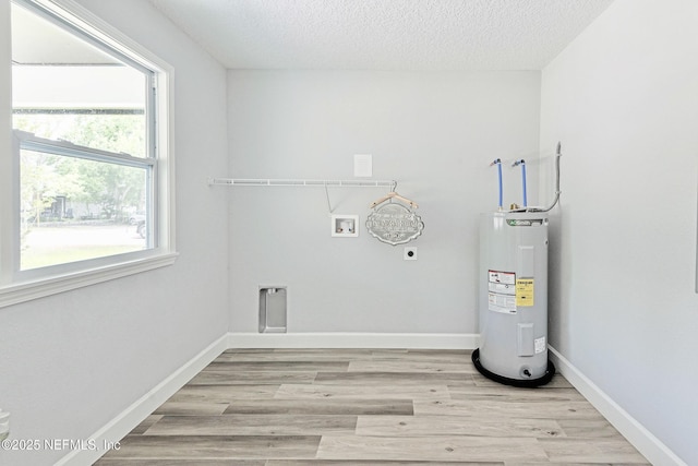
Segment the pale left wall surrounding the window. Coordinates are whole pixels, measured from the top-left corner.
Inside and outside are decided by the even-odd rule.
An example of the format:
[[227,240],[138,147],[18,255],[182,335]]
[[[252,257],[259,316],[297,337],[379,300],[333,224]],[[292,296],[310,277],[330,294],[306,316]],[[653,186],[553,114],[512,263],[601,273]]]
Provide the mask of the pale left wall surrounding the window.
[[[225,70],[148,2],[81,3],[176,69],[181,255],[155,272],[0,309],[0,406],[13,439],[87,440],[228,331],[227,199],[206,183],[227,169]],[[0,40],[7,50],[4,33]],[[52,464],[67,453],[0,450],[0,464]]]

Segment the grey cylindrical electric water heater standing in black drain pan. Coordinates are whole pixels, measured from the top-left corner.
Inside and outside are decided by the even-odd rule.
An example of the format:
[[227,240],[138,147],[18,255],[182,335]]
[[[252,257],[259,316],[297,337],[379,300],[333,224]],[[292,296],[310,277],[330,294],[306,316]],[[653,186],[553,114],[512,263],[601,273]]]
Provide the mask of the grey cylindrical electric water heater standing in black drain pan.
[[485,377],[515,386],[542,385],[547,359],[547,214],[493,212],[480,218],[480,348]]

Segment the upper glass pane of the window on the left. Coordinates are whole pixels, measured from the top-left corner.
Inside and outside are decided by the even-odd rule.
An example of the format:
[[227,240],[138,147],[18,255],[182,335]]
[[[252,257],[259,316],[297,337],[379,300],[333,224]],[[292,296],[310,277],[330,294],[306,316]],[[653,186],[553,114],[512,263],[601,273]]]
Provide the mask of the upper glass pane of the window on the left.
[[12,4],[14,128],[147,156],[149,74],[61,26]]

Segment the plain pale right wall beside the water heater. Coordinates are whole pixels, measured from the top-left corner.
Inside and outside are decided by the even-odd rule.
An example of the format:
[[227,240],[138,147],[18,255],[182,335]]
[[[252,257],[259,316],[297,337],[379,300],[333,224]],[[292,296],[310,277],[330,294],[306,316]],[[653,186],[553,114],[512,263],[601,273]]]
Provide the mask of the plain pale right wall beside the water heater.
[[698,464],[698,3],[616,0],[543,70],[563,141],[551,344]]

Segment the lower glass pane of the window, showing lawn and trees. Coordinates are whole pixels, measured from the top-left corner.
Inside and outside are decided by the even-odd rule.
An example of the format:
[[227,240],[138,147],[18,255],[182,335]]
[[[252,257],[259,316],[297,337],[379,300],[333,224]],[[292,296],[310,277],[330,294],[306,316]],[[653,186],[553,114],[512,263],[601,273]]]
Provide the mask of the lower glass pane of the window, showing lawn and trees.
[[27,150],[20,166],[21,270],[146,248],[147,168]]

